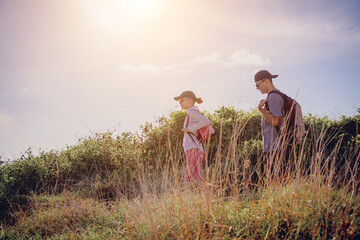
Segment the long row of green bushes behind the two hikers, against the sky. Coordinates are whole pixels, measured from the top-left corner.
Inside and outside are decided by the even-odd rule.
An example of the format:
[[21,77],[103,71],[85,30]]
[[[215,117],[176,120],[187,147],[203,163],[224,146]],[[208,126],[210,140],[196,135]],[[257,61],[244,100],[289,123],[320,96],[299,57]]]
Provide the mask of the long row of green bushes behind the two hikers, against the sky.
[[[245,112],[234,107],[220,107],[214,113],[203,112],[215,129],[209,144],[208,165],[216,159],[226,162],[234,158],[240,168],[239,177],[245,177],[244,169],[254,166],[262,150],[261,115],[258,111]],[[23,203],[23,196],[31,192],[60,192],[66,188],[84,187],[89,194],[104,198],[118,194],[133,195],[139,191],[139,175],[151,176],[169,165],[170,156],[184,162],[181,131],[185,111],[174,111],[168,117],[156,118],[145,123],[139,133],[112,132],[92,134],[64,150],[41,152],[34,156],[28,150],[18,160],[0,166],[0,207],[4,218],[11,206]],[[336,164],[341,167],[351,159],[350,167],[358,159],[360,115],[342,117],[340,120],[305,117],[307,138],[304,141],[307,155],[306,167],[319,148],[330,153],[339,148]],[[311,130],[310,130],[311,129]],[[325,144],[317,146],[317,139]],[[231,151],[235,155],[231,155]],[[120,190],[119,190],[120,189]],[[15,205],[14,205],[15,204]]]

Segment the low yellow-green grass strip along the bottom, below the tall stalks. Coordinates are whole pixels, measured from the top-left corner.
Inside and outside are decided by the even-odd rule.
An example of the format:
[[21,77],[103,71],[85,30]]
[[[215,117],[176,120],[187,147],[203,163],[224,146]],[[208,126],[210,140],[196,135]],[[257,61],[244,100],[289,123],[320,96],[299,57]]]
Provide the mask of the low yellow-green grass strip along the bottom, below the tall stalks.
[[[292,182],[247,196],[184,189],[104,202],[76,193],[34,195],[2,226],[8,239],[327,239],[360,233],[360,197]],[[314,195],[315,194],[315,195]],[[5,227],[5,228],[4,228]]]

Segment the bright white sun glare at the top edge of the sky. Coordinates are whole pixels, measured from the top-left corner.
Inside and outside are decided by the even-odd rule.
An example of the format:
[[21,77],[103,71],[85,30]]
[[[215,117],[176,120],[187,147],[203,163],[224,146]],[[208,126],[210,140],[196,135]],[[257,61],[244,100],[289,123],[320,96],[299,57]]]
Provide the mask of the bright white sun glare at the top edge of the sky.
[[162,0],[83,0],[92,22],[115,31],[151,21],[160,11]]

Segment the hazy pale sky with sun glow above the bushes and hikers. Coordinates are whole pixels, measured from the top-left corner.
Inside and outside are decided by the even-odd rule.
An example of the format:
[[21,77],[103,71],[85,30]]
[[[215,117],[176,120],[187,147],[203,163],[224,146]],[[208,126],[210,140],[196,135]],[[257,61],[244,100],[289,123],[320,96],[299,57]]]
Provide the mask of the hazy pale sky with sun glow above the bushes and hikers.
[[0,0],[0,156],[136,132],[204,103],[252,110],[254,74],[304,115],[360,107],[358,0]]

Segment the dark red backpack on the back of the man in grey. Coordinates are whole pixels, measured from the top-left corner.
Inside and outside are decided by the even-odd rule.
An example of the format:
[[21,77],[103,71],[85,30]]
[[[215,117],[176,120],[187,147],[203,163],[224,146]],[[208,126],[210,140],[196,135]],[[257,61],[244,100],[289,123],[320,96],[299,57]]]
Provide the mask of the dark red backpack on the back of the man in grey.
[[[305,135],[305,123],[303,120],[302,110],[300,104],[291,97],[280,91],[271,91],[268,94],[268,97],[271,93],[277,93],[284,99],[284,117],[282,126],[282,133],[287,134],[291,140],[295,143],[299,143]],[[266,103],[266,109],[269,110],[269,105]],[[280,132],[280,127],[277,126],[278,132]]]

